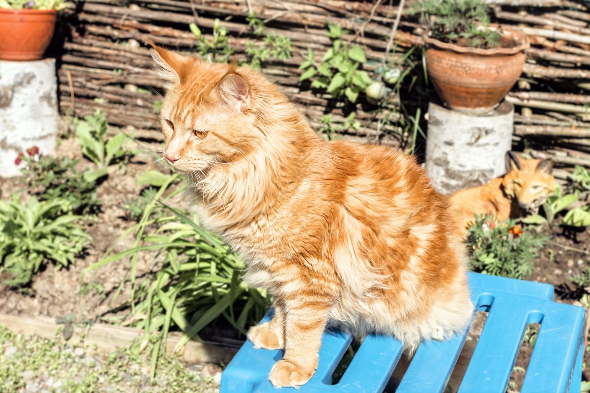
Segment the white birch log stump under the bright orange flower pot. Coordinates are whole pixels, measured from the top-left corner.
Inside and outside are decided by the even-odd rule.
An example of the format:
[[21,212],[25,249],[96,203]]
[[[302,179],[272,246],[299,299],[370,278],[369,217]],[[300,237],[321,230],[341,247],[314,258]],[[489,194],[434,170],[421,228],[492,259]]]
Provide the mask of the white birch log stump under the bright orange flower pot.
[[0,176],[21,174],[15,159],[32,146],[53,154],[57,131],[55,59],[0,60]]

